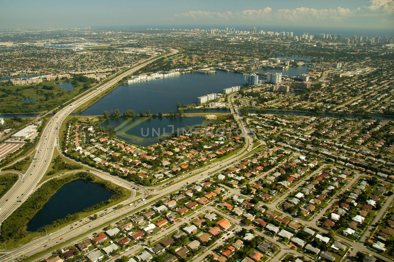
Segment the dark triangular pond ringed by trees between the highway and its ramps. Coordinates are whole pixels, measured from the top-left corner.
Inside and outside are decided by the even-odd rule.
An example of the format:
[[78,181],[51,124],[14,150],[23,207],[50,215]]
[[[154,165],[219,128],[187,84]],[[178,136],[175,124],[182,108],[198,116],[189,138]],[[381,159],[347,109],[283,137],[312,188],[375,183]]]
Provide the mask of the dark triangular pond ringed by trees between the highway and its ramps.
[[97,203],[108,200],[113,192],[96,183],[82,179],[71,181],[46,202],[27,224],[27,231],[33,232],[51,224],[68,214],[74,214]]

